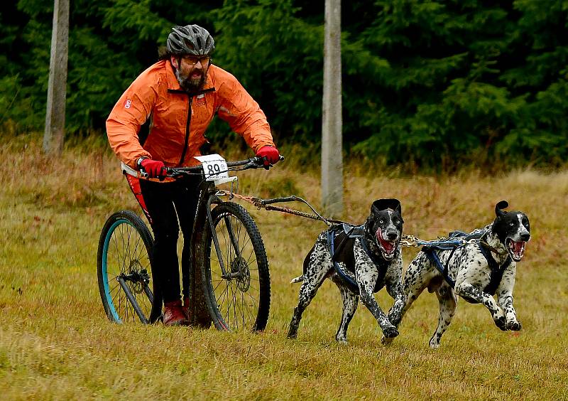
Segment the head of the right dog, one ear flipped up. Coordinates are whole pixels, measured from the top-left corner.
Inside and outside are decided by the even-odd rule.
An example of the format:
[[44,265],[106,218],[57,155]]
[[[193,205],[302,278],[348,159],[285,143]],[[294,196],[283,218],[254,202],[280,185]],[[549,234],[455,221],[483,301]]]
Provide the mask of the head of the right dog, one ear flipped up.
[[504,212],[508,207],[507,201],[495,205],[496,219],[491,230],[505,245],[510,257],[519,262],[525,255],[525,245],[530,240],[530,224],[525,213]]

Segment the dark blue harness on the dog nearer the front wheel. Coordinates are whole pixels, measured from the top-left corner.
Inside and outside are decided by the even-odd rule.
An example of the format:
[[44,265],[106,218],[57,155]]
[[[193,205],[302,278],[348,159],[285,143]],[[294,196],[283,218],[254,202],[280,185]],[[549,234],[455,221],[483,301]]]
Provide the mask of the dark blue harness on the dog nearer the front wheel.
[[[353,279],[355,275],[355,257],[353,252],[353,244],[355,240],[359,238],[361,246],[364,251],[371,258],[371,261],[376,265],[378,269],[378,277],[375,282],[375,287],[373,292],[378,292],[384,285],[384,279],[386,275],[386,270],[388,268],[389,262],[383,260],[380,257],[374,255],[365,239],[365,226],[364,225],[334,225],[332,228],[327,230],[327,245],[329,248],[329,254],[332,255],[332,263],[337,272],[337,275],[347,284],[352,292],[359,295],[359,285]],[[337,246],[335,244],[337,242]],[[349,246],[349,251],[346,255],[341,254],[341,250],[345,246]],[[343,269],[338,262],[343,262],[348,270]],[[349,269],[353,269],[352,271]]]

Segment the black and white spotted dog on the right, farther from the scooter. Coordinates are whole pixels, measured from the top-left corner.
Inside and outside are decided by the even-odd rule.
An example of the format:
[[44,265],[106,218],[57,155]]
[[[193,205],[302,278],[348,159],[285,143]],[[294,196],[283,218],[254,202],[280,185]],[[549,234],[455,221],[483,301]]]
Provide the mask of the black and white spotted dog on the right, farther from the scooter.
[[[425,288],[436,292],[439,319],[430,338],[431,348],[439,347],[456,311],[458,295],[473,304],[483,304],[501,330],[520,330],[513,308],[513,287],[516,264],[523,259],[530,240],[530,226],[527,215],[504,212],[507,207],[506,201],[497,203],[493,223],[462,237],[476,240],[463,246],[423,247],[410,262],[403,280],[406,301],[400,317]],[[393,321],[397,327],[399,323]]]

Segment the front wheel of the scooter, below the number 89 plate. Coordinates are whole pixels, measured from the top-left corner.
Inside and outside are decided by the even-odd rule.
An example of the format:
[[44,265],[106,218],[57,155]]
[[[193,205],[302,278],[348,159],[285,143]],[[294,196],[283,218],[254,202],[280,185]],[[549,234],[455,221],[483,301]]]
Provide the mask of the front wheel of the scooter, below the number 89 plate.
[[[223,202],[204,229],[202,282],[215,327],[230,331],[266,328],[271,279],[266,250],[251,215],[239,204]],[[222,262],[222,263],[221,263]]]

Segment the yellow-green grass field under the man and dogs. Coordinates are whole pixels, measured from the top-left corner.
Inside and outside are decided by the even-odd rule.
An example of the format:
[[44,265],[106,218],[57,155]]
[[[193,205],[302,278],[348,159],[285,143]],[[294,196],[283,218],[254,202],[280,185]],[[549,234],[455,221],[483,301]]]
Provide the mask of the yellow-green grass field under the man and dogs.
[[[266,331],[111,324],[97,288],[99,232],[114,211],[138,211],[116,159],[104,147],[82,146],[53,161],[31,137],[3,142],[2,399],[568,399],[566,171],[398,178],[354,161],[346,165],[341,217],[353,223],[364,220],[373,200],[387,197],[402,202],[405,233],[422,239],[481,227],[502,199],[529,215],[532,240],[515,286],[523,331],[502,332],[483,306],[461,301],[439,350],[432,351],[427,342],[437,300],[427,293],[391,345],[381,345],[381,331],[364,306],[351,323],[349,344],[335,343],[341,306],[330,282],[305,312],[297,340],[287,340],[299,289],[288,283],[324,225],[249,207],[271,263]],[[242,173],[239,191],[293,193],[319,208],[317,167],[302,166],[294,152],[286,156],[271,171]],[[416,252],[405,249],[405,263]],[[384,290],[376,295],[383,309],[391,306]]]

